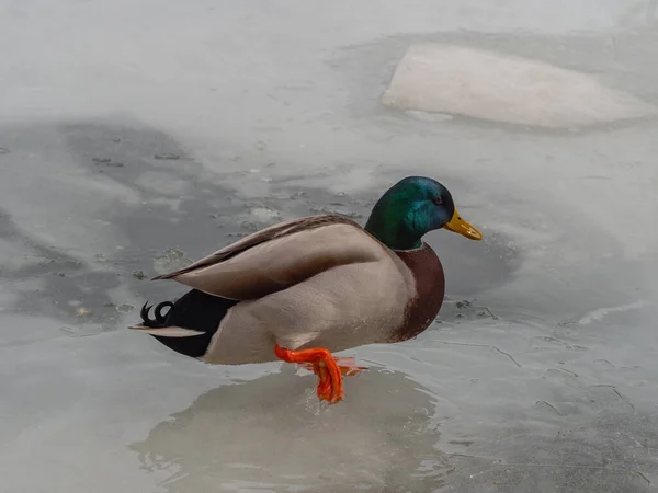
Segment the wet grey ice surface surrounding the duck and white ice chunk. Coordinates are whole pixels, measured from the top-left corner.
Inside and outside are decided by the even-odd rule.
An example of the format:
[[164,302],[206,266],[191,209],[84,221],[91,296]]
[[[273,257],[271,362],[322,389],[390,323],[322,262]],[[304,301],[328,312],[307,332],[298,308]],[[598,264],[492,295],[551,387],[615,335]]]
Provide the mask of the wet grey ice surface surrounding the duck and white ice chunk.
[[[654,7],[479,3],[0,1],[0,491],[655,489],[656,124],[379,104],[408,46],[441,42],[656,105]],[[428,236],[438,323],[345,352],[371,369],[341,404],[125,330],[183,293],[144,276],[296,216],[364,222],[407,174],[485,241]]]

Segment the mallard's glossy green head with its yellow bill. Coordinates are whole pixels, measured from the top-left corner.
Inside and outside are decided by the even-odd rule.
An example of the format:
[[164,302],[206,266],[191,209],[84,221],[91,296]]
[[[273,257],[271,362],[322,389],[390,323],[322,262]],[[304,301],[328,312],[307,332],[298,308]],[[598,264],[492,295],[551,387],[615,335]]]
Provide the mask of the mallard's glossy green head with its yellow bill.
[[408,176],[393,185],[375,204],[366,231],[393,250],[420,248],[429,231],[445,228],[470,240],[481,233],[455,208],[445,186],[424,176]]

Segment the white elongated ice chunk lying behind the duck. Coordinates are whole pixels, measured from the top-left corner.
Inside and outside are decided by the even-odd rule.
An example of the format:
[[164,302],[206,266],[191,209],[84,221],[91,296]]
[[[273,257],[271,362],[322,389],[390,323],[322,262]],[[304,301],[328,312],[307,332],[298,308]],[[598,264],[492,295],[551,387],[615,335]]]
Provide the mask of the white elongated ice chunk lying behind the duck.
[[540,60],[444,44],[411,45],[382,102],[549,128],[638,118],[655,107],[587,73]]

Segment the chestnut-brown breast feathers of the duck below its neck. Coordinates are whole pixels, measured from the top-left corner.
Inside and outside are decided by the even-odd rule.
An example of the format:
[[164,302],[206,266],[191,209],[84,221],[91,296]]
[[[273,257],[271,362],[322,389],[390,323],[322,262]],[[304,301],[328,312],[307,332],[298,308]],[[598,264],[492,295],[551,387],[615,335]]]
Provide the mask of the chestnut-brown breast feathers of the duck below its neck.
[[405,321],[396,330],[389,342],[401,342],[416,337],[434,320],[445,294],[443,266],[434,251],[427,244],[417,250],[396,252],[413,273],[416,297],[410,299],[405,310]]

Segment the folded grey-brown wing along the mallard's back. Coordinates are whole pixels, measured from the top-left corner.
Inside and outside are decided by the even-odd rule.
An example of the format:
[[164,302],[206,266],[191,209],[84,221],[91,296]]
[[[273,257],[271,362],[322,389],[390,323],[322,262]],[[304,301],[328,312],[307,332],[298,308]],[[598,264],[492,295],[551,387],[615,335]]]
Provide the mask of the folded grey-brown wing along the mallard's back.
[[157,276],[211,295],[256,299],[339,265],[375,262],[382,244],[342,216],[294,219],[241,240],[193,263]]

